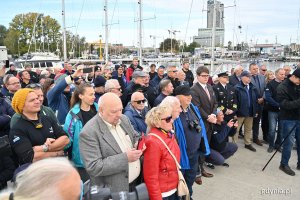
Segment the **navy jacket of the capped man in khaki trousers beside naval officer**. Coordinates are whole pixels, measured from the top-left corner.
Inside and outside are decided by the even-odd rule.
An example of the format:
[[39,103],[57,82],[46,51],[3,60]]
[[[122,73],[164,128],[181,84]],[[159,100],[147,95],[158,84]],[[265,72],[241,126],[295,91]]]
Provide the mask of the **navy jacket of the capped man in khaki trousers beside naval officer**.
[[[238,117],[254,117],[258,113],[258,91],[252,83],[249,83],[249,95],[248,98],[247,88],[240,82],[235,86],[235,95],[237,99],[237,116]],[[249,107],[250,100],[250,107]]]

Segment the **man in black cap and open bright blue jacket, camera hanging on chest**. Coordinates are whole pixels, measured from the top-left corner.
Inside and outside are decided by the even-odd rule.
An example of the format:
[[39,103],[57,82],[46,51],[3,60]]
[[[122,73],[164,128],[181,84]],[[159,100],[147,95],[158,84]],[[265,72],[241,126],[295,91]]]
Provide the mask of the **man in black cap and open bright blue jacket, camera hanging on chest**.
[[[180,165],[183,176],[192,196],[192,186],[196,179],[199,152],[210,153],[206,130],[200,112],[191,103],[192,96],[188,85],[178,86],[174,91],[182,111],[174,121],[175,134],[180,147]],[[203,138],[203,139],[202,139]]]

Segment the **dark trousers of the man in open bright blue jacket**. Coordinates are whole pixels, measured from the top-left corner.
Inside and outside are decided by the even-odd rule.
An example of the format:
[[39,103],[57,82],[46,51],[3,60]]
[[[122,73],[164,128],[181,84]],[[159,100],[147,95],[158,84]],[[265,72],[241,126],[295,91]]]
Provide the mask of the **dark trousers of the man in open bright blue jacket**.
[[181,170],[182,175],[185,179],[185,182],[189,188],[190,196],[193,194],[193,184],[195,182],[197,168],[198,168],[198,158],[199,154],[195,153],[194,155],[189,156],[190,169]]

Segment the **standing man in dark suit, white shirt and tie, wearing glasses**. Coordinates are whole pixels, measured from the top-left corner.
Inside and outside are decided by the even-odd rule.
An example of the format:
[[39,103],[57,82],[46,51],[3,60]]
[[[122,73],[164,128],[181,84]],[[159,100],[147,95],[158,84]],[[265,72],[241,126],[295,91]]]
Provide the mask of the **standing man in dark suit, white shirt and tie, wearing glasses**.
[[[198,67],[196,70],[197,80],[191,87],[192,103],[198,107],[201,117],[205,123],[208,142],[210,142],[212,134],[212,125],[216,123],[216,113],[218,102],[214,90],[210,84],[207,84],[209,78],[209,70],[207,67]],[[211,155],[210,155],[211,157]],[[201,171],[204,177],[212,177],[203,169],[204,158],[201,157]]]

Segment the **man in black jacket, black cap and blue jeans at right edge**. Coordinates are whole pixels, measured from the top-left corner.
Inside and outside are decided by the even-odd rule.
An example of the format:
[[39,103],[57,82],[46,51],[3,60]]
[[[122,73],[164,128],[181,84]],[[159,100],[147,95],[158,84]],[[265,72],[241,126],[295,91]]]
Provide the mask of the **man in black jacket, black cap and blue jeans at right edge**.
[[293,137],[295,137],[297,169],[300,170],[300,68],[297,68],[277,87],[277,100],[280,106],[279,117],[282,120],[282,130],[284,130],[282,138],[287,137],[283,143],[279,169],[290,176],[295,176],[288,163],[293,148]]

